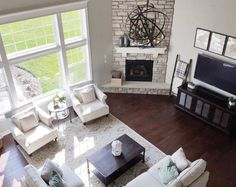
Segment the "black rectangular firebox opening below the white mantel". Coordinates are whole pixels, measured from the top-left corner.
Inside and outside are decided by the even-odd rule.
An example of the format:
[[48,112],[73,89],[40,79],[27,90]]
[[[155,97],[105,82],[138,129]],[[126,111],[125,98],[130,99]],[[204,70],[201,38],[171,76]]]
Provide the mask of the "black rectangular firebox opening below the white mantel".
[[152,81],[153,61],[152,60],[126,60],[125,79],[126,81]]

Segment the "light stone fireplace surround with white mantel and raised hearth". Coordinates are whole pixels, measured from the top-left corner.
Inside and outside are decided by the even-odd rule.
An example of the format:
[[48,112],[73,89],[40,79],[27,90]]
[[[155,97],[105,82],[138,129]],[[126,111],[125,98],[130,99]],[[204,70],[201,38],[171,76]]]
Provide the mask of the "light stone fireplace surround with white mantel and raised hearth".
[[[121,87],[114,87],[109,83],[104,86],[105,92],[115,93],[143,93],[143,94],[166,94],[169,85],[165,84],[168,49],[170,43],[172,19],[174,14],[175,0],[150,0],[151,3],[168,16],[165,29],[165,39],[155,48],[142,49],[136,47],[119,47],[119,38],[124,34],[124,24],[126,23],[128,14],[137,7],[137,5],[146,4],[146,0],[112,0],[112,30],[113,30],[113,69],[123,72],[124,80],[126,79],[127,63],[130,61],[140,62],[141,60],[153,61],[152,63],[152,79],[146,82],[136,77],[136,81],[132,78]],[[165,50],[162,50],[165,49]],[[153,52],[149,53],[148,50]],[[123,52],[128,51],[125,55]],[[138,52],[137,52],[138,51]],[[143,52],[142,52],[143,51]],[[155,52],[156,51],[156,52]],[[142,65],[138,65],[136,72],[142,72]],[[145,82],[143,82],[145,81]],[[164,88],[163,88],[164,87]],[[164,89],[164,91],[163,91]]]

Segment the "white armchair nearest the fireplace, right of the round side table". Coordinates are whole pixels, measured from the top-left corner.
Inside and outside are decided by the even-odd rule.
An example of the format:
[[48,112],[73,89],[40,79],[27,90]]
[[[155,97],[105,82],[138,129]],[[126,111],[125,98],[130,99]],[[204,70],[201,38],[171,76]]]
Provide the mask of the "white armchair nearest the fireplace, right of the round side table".
[[[96,99],[92,102],[84,103],[79,93],[90,88],[94,90]],[[84,124],[88,121],[109,114],[109,106],[106,104],[106,99],[107,96],[95,84],[75,88],[71,93],[71,101],[74,111],[78,114]]]

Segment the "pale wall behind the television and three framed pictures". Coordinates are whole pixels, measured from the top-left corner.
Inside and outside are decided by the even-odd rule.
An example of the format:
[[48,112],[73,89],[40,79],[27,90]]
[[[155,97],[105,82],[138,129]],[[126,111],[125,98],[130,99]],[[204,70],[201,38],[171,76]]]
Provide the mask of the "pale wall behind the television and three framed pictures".
[[[176,0],[166,75],[168,83],[171,81],[177,54],[180,54],[181,58],[186,61],[190,58],[193,59],[191,77],[194,74],[198,53],[206,53],[231,63],[236,63],[235,60],[193,47],[197,27],[236,36],[235,7],[235,0]],[[196,80],[194,82],[200,83],[196,82]],[[220,92],[214,87],[209,86],[209,88]]]

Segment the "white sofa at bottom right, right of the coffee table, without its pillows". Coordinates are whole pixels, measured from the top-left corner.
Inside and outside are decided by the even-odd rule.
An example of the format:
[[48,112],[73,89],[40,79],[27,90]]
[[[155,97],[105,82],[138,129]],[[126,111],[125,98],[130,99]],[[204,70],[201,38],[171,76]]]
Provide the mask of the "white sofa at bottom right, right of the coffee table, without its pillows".
[[203,159],[189,162],[189,167],[183,170],[176,179],[164,185],[158,174],[157,163],[148,171],[130,181],[126,187],[206,187],[209,172],[205,169],[206,161]]

